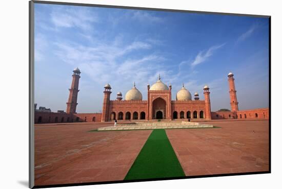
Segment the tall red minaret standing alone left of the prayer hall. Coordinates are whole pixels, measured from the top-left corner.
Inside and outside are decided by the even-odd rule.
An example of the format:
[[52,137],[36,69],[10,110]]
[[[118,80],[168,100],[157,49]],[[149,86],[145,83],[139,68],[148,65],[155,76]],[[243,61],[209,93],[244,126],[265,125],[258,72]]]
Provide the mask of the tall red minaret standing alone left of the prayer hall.
[[67,102],[67,113],[76,113],[76,105],[77,105],[77,93],[78,93],[78,82],[80,78],[80,70],[75,68],[73,70],[72,75],[72,82],[71,82],[71,88],[69,89],[70,95],[69,100]]

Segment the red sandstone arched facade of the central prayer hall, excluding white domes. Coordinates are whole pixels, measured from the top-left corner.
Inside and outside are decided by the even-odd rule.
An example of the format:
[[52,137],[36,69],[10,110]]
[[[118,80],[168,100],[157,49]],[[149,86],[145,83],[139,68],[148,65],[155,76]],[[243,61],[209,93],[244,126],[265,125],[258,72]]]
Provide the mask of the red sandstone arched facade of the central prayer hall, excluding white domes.
[[[106,88],[104,91],[104,97],[107,99],[110,98],[110,89]],[[104,102],[108,104],[104,103],[103,111],[105,110],[105,112],[102,113],[102,122],[112,121],[114,117],[117,117],[118,120],[198,119],[200,111],[203,111],[203,115],[206,114],[206,111],[210,111],[206,107],[209,101],[207,103],[198,98],[197,100],[172,100],[171,86],[164,87],[162,90],[154,89],[155,87],[151,90],[148,86],[148,100],[122,100],[120,92],[117,95],[117,100],[107,101],[104,99]],[[205,98],[209,98],[209,96],[205,96]],[[110,112],[109,115],[106,110]],[[196,111],[195,116],[193,116],[194,111]]]

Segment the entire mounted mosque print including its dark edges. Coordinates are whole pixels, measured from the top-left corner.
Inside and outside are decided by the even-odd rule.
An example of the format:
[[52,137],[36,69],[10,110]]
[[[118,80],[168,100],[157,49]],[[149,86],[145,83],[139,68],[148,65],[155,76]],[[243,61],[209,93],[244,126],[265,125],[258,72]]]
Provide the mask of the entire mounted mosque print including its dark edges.
[[270,16],[29,13],[30,188],[271,173]]

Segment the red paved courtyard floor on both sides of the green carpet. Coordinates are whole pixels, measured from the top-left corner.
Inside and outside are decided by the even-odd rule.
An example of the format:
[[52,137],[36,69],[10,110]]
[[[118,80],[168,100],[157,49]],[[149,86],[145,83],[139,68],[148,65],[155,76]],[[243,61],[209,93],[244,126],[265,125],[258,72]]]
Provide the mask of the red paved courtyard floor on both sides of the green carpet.
[[[205,123],[166,130],[187,176],[269,170],[268,121]],[[110,125],[35,125],[35,185],[123,180],[152,130],[88,132]]]

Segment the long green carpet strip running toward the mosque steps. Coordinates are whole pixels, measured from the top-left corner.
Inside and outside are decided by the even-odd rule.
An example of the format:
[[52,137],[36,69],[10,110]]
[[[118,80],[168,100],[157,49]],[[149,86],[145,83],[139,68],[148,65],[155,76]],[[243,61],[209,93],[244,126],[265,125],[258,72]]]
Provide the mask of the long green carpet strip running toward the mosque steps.
[[125,180],[182,176],[185,176],[184,171],[166,131],[155,129],[132,164]]

